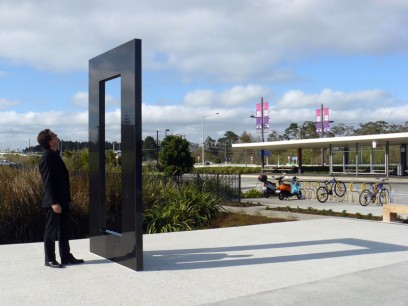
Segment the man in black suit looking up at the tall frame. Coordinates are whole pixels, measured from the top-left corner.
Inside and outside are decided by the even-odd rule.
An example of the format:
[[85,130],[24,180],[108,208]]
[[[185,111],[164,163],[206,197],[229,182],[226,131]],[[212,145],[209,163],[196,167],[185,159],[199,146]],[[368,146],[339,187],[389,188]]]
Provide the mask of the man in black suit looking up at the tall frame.
[[[44,250],[45,265],[62,268],[66,264],[83,263],[70,253],[69,247],[69,202],[71,201],[68,170],[59,155],[57,134],[50,129],[37,136],[44,152],[40,160],[40,173],[44,185],[41,207],[45,211]],[[55,240],[58,234],[61,264],[55,257]]]

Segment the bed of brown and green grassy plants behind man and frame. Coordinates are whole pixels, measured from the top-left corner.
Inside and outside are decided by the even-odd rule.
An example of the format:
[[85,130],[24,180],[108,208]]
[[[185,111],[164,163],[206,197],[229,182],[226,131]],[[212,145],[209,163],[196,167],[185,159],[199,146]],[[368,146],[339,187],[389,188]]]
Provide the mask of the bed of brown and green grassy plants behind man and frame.
[[[88,151],[69,152],[64,161],[71,178],[72,238],[89,236]],[[27,157],[21,169],[0,167],[0,244],[42,241],[44,216],[40,207],[43,186],[39,157]],[[204,228],[222,210],[214,179],[180,184],[157,169],[143,170],[144,229],[149,233]],[[120,167],[106,167],[107,225],[121,223]],[[222,179],[218,183],[223,184]],[[228,182],[225,182],[228,185]],[[119,229],[120,231],[120,229]]]

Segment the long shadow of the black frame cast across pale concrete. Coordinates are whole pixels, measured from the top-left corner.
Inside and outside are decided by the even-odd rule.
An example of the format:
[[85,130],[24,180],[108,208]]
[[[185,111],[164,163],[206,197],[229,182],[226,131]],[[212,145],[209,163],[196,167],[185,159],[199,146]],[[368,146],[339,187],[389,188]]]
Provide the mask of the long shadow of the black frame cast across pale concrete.
[[[341,245],[341,247],[349,248],[346,250],[337,251],[322,251],[322,247],[331,248],[328,245]],[[315,246],[315,250],[311,250],[310,246]],[[288,248],[305,248],[301,254],[277,255],[273,256],[274,250]],[[319,251],[320,248],[320,251]],[[255,254],[254,251],[263,250],[260,254]],[[266,256],[265,250],[271,251],[271,256]],[[302,249],[296,250],[302,252]],[[313,251],[310,252],[310,251]],[[375,242],[369,240],[344,238],[344,239],[328,239],[314,241],[300,241],[277,244],[263,245],[245,245],[233,247],[218,247],[218,248],[202,248],[202,249],[180,249],[166,251],[146,251],[144,252],[145,271],[157,270],[188,270],[188,269],[206,269],[219,267],[233,267],[242,265],[259,265],[282,262],[294,262],[304,260],[316,260],[346,256],[358,256],[377,253],[401,252],[408,251],[407,246]],[[240,254],[231,255],[232,252],[240,252]],[[246,253],[247,252],[247,253]],[[276,252],[276,251],[275,251]],[[286,251],[287,253],[288,251]],[[292,252],[293,253],[293,252]],[[257,256],[257,257],[256,257]]]

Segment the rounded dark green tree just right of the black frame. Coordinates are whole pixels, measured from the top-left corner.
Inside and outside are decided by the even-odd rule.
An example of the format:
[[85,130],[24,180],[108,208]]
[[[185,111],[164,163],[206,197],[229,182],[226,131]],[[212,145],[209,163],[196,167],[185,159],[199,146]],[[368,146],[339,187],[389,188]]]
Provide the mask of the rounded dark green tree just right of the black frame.
[[190,143],[181,136],[169,135],[162,141],[160,162],[166,175],[180,176],[190,172],[194,158],[190,152]]

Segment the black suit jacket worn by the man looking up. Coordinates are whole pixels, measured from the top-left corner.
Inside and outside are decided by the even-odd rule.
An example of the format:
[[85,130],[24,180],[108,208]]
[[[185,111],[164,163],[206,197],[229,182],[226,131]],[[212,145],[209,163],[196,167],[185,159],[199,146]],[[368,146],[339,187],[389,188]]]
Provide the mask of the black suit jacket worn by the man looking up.
[[69,174],[59,153],[44,150],[39,167],[44,185],[41,206],[50,207],[56,203],[61,206],[68,205],[71,202]]

